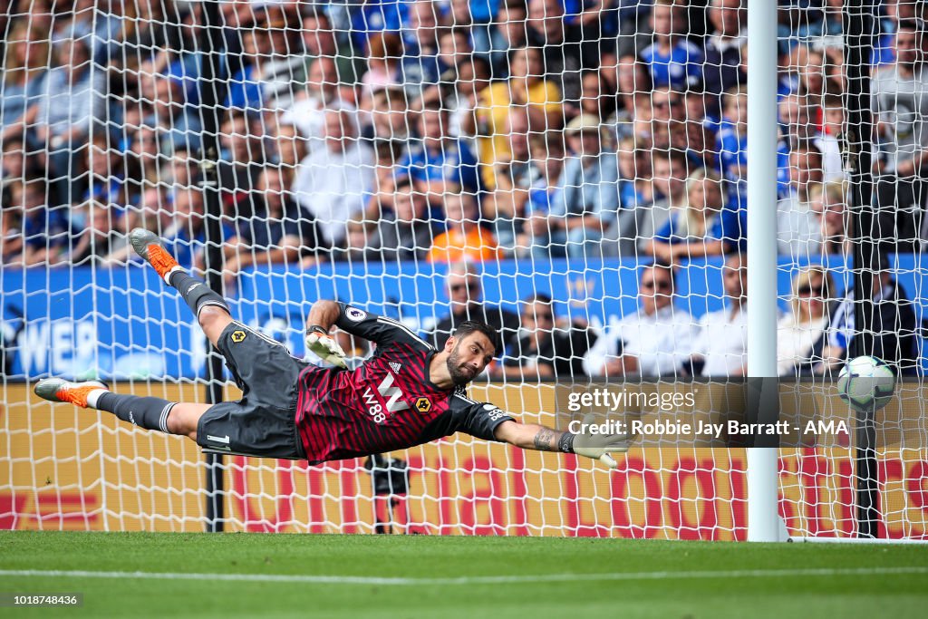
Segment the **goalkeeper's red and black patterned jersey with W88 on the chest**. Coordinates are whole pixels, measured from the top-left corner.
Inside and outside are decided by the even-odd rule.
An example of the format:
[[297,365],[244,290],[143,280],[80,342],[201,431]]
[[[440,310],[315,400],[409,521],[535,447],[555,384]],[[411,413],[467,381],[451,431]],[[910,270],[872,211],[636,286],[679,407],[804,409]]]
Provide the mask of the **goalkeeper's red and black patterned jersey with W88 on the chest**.
[[492,404],[468,399],[462,388],[432,383],[436,351],[403,324],[339,304],[335,324],[376,342],[377,349],[355,369],[311,366],[301,372],[296,424],[310,462],[405,449],[458,431],[495,440],[496,426],[512,419]]

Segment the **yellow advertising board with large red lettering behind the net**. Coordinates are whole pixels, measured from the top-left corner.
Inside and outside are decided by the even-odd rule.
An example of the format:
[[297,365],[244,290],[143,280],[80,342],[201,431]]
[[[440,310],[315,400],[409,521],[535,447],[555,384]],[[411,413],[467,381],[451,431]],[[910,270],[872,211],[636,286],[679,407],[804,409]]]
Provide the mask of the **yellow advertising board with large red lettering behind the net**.
[[[117,392],[198,401],[200,385]],[[471,397],[552,425],[552,388],[491,385]],[[234,390],[229,397],[235,397]],[[187,439],[105,412],[50,406],[7,385],[0,407],[0,528],[201,531],[205,467]],[[522,409],[522,410],[520,410]],[[403,496],[376,496],[363,459],[226,458],[226,530],[426,535],[593,535],[742,539],[743,449],[635,448],[607,471],[586,458],[455,435],[391,455]],[[928,536],[928,446],[879,450],[882,536]],[[780,449],[780,513],[793,535],[854,533],[850,445]],[[380,522],[380,524],[379,524]]]

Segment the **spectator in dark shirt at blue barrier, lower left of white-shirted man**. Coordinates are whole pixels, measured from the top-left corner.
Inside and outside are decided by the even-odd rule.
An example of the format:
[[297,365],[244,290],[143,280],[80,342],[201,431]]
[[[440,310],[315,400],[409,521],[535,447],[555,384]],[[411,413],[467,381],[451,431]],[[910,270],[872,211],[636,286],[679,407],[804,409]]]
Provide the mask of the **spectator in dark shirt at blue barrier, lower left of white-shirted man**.
[[267,166],[258,175],[254,216],[238,224],[238,237],[226,244],[226,284],[250,266],[299,264],[316,251],[316,230],[308,213],[288,192],[290,172]]

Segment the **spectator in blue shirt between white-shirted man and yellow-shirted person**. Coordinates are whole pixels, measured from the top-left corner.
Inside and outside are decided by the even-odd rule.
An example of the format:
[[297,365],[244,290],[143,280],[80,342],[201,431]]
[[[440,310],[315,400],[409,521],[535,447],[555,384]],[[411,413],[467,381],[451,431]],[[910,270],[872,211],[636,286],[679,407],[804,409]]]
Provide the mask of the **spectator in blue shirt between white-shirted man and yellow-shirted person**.
[[467,143],[448,132],[448,113],[438,104],[418,114],[420,141],[399,161],[399,174],[408,174],[416,191],[433,205],[455,187],[471,194],[480,191],[477,159]]

